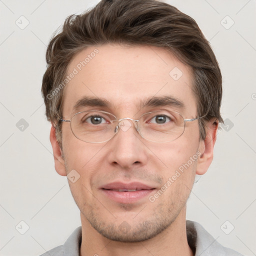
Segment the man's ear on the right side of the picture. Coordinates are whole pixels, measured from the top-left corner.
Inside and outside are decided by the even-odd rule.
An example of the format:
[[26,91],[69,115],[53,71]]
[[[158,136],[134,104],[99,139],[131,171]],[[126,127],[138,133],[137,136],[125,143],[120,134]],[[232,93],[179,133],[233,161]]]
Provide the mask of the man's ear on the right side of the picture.
[[201,152],[200,157],[197,159],[196,174],[204,174],[213,158],[213,147],[216,141],[218,128],[218,120],[215,118],[210,119],[205,127],[206,136],[204,140],[200,141],[198,150]]

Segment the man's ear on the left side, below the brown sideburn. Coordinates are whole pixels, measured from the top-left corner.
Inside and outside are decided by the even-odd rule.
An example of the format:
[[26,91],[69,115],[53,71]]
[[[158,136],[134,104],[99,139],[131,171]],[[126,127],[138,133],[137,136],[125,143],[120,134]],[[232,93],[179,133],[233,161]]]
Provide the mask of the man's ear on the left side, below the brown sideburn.
[[50,128],[50,143],[52,146],[54,164],[56,172],[61,176],[66,176],[65,163],[62,156],[62,150],[56,138],[56,129],[53,125]]

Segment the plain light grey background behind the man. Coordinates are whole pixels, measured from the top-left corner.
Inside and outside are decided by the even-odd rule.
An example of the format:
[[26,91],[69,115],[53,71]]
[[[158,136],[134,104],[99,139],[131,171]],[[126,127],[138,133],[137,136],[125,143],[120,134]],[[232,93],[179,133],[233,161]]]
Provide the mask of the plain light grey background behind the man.
[[[54,170],[40,86],[51,34],[67,15],[96,2],[0,0],[0,255],[41,254],[80,225],[66,177]],[[166,2],[192,16],[210,41],[222,70],[221,113],[228,125],[219,131],[208,172],[193,187],[187,219],[224,246],[255,255],[256,1]]]

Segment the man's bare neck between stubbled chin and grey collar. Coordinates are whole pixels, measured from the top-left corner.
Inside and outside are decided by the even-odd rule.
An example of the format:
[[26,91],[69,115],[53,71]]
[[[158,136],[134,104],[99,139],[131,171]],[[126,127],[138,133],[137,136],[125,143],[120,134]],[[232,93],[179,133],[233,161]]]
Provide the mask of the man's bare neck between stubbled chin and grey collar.
[[82,241],[80,255],[119,256],[125,255],[184,255],[193,256],[187,243],[185,207],[166,229],[153,238],[141,242],[119,242],[98,233],[81,214]]

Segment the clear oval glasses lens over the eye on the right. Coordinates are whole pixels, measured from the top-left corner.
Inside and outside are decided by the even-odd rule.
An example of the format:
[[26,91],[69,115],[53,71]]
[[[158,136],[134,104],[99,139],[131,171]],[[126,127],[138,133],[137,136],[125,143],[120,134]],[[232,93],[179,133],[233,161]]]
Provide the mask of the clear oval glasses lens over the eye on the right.
[[184,119],[175,111],[158,110],[141,115],[140,135],[150,141],[169,142],[184,132]]

